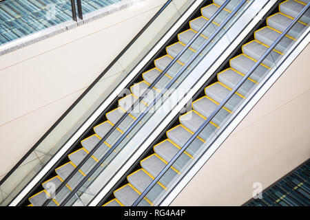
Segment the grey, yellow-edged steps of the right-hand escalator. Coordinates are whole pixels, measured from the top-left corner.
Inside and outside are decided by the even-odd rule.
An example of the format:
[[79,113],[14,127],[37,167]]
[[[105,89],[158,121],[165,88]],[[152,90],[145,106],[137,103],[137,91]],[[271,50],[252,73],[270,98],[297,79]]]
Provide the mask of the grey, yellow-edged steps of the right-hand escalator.
[[[110,201],[107,200],[103,206],[132,206],[134,201],[145,191],[147,186],[151,184],[154,177],[158,176],[166,164],[180,151],[198,128],[207,120],[209,115],[216,109],[218,104],[222,102],[229,94],[231,89],[234,89],[240,82],[242,76],[254,66],[260,57],[267,51],[274,41],[282,32],[289,26],[298,13],[304,8],[308,1],[283,1],[279,4],[279,11],[267,17],[264,27],[259,28],[254,32],[254,40],[242,45],[242,54],[238,54],[229,60],[229,67],[217,74],[217,82],[208,85],[204,89],[202,97],[192,103],[192,111],[180,115],[179,122],[176,126],[169,128],[165,133],[165,140],[155,144],[151,155],[148,155],[141,160],[140,164],[134,168],[134,172],[127,175],[125,184],[114,190],[110,196]],[[309,26],[310,11],[308,10],[304,16],[298,21],[297,25],[289,31],[275,49],[265,58],[256,71],[251,74],[251,78],[247,78],[245,83],[238,89],[238,92],[232,96],[221,109],[218,114],[211,120],[207,126],[192,142],[186,151],[171,166],[167,173],[163,175],[161,181],[158,181],[153,186],[152,190],[144,197],[144,200],[139,203],[141,206],[153,205],[152,201],[156,201],[158,195],[163,194],[167,190],[167,186],[171,184],[172,179],[180,175],[181,170],[187,166],[190,160],[194,159],[194,155],[201,147],[204,147],[202,142],[209,140],[209,137],[231,117],[231,113],[238,109],[242,99],[254,90],[254,88],[262,81],[263,78],[270,72],[274,65],[285,55],[288,48],[294,41],[297,41],[300,34]]]

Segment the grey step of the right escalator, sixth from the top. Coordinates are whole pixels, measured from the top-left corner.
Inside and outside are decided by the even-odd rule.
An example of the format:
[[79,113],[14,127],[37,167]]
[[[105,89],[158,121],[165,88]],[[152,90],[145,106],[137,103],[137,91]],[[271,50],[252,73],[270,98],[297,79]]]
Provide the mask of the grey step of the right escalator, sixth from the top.
[[[223,72],[220,72],[218,74],[218,81],[220,83],[223,83],[224,85],[227,85],[227,87],[233,89],[236,87],[236,85],[240,82],[240,80],[243,78],[243,75],[236,72],[234,69],[229,68],[225,69]],[[245,83],[241,85],[241,87],[237,90],[237,92],[241,96],[249,96],[250,92],[258,85],[257,83],[254,83],[253,80],[247,79]]]

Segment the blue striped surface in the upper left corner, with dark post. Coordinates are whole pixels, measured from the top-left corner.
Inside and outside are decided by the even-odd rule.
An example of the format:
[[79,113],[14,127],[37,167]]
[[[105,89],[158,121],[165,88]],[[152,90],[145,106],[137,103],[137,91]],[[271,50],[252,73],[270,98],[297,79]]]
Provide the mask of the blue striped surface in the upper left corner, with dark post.
[[[0,0],[0,45],[14,41],[28,34],[50,28],[72,19],[71,2],[59,0]],[[83,0],[83,14],[118,3],[121,0]],[[54,5],[56,14],[51,14],[50,5]]]

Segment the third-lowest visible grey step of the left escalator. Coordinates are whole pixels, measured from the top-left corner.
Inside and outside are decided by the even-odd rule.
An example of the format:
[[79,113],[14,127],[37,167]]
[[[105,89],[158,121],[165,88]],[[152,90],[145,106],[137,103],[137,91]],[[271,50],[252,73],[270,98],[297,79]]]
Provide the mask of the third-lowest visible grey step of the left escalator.
[[[55,172],[57,175],[59,175],[59,177],[61,177],[61,179],[65,179],[70,175],[70,173],[72,173],[75,167],[76,166],[72,162],[68,162],[67,164],[63,164],[63,166],[56,168]],[[79,182],[83,178],[84,178],[84,175],[79,170],[79,172],[76,172],[74,176],[68,181],[67,184],[70,188],[73,189],[77,186],[77,184],[79,184]]]

